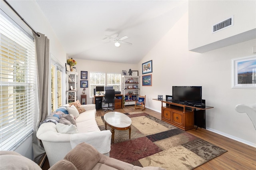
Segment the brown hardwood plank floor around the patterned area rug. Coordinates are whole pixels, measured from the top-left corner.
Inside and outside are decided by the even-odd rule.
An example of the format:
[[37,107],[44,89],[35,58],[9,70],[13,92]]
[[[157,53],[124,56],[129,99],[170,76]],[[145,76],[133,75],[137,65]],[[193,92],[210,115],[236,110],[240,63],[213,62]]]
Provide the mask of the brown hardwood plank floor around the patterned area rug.
[[[125,106],[124,109],[116,109],[114,111],[120,113],[129,113],[141,110],[135,110],[134,105],[131,105]],[[96,116],[104,116],[104,114],[108,112],[109,111],[104,112],[98,110]],[[146,108],[143,112],[161,119],[161,114],[156,111]],[[210,132],[204,128],[198,128],[197,130],[194,128],[187,130],[186,132],[228,150],[228,152],[214,158],[213,160],[210,160],[209,162],[206,162],[195,170],[256,170],[256,148],[221,136],[214,132]],[[45,164],[47,163],[48,162],[46,161]],[[42,169],[47,170],[48,168]]]

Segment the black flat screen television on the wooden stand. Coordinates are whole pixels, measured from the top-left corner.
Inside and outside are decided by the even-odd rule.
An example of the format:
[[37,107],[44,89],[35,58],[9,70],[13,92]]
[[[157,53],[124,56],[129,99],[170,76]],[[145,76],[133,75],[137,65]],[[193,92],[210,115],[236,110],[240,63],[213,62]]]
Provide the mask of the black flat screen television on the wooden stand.
[[172,101],[202,103],[202,86],[172,86]]

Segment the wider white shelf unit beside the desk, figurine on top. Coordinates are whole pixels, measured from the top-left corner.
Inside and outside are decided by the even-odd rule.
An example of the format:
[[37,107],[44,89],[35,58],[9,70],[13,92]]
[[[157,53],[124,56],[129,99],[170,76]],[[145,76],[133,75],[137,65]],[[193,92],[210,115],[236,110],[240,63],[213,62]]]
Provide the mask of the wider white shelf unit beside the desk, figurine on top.
[[122,94],[124,105],[135,105],[140,96],[140,76],[122,75]]

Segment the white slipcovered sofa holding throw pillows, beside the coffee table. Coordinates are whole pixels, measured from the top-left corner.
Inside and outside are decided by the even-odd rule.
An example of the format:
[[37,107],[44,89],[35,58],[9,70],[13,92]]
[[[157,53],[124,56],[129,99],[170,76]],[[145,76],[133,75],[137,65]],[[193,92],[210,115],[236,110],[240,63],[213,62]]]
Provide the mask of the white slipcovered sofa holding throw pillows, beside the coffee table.
[[[70,107],[68,104],[64,106]],[[76,127],[78,132],[73,134],[60,133],[57,131],[57,125],[60,124],[55,124],[53,122],[42,123],[38,128],[36,136],[44,145],[50,166],[59,160],[62,160],[64,156],[72,150],[72,148],[81,142],[91,144],[100,153],[109,156],[111,146],[110,130],[100,131],[98,128],[95,119],[95,105],[81,106],[86,111],[80,113],[76,118]]]

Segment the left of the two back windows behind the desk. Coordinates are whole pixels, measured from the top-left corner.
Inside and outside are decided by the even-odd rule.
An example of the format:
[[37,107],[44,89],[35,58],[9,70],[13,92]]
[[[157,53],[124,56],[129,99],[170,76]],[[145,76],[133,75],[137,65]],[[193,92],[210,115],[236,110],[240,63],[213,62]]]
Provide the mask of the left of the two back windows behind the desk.
[[94,97],[96,86],[105,86],[105,73],[90,72],[90,97]]

